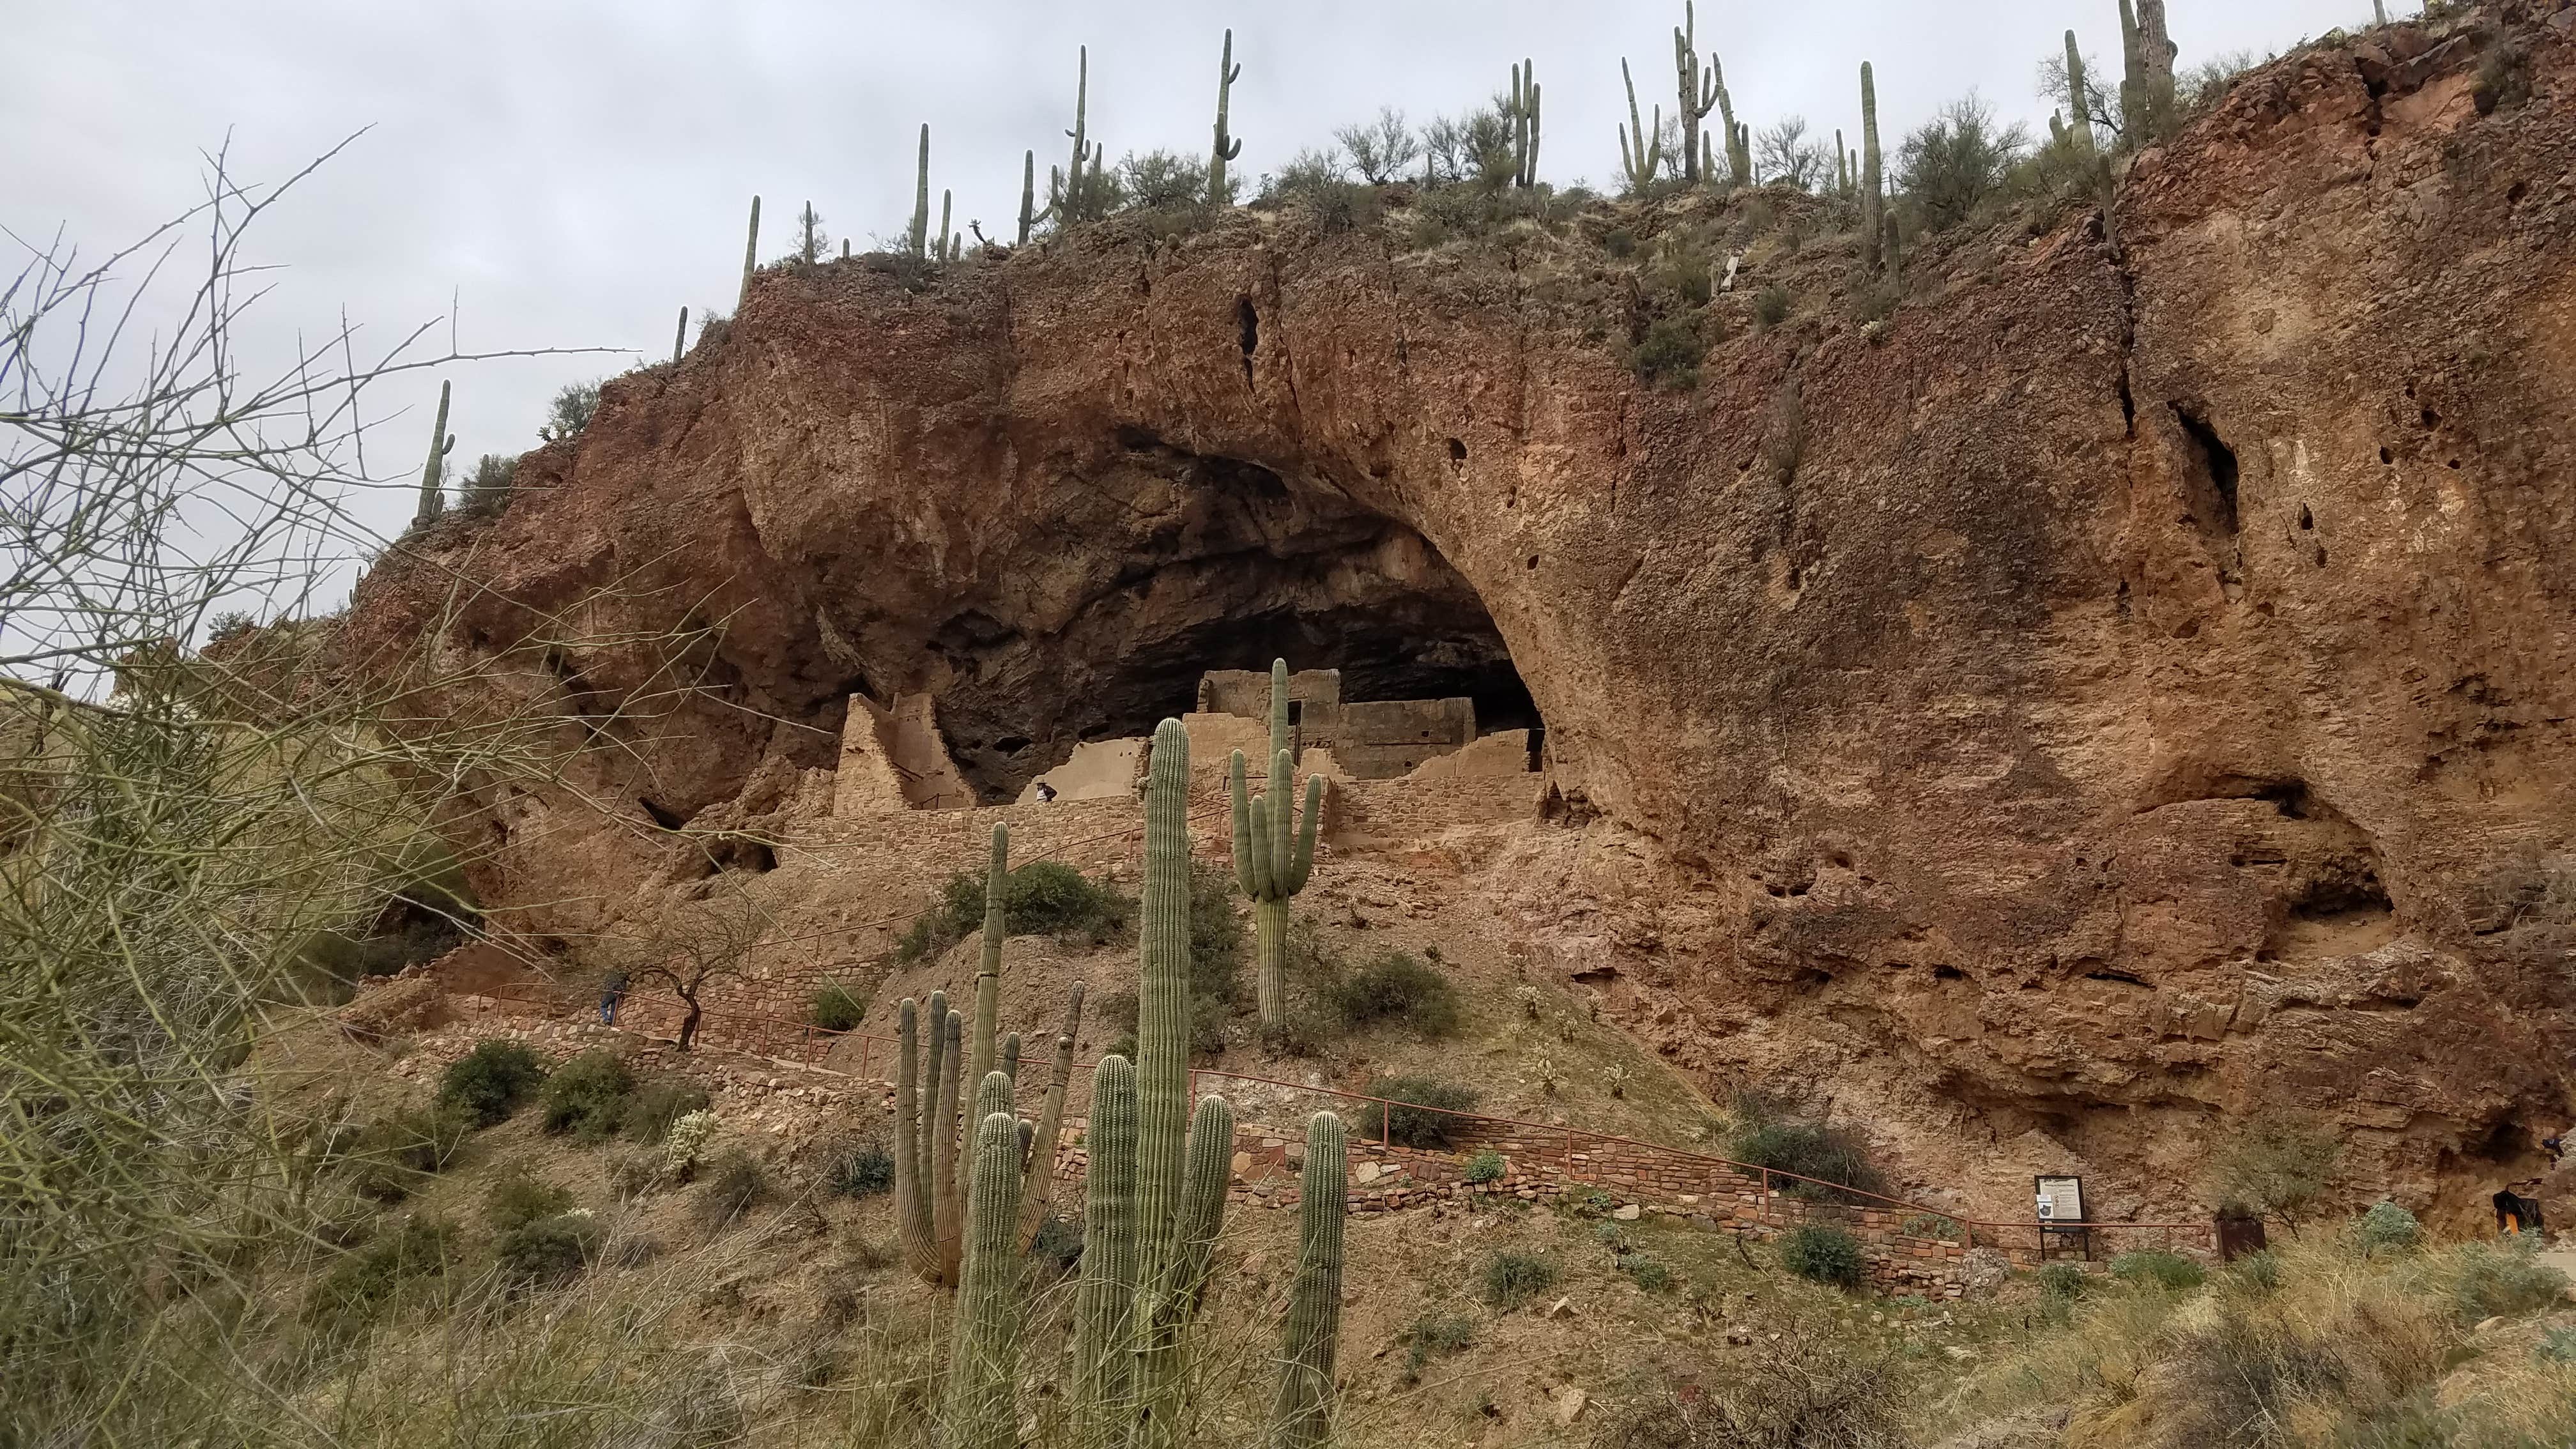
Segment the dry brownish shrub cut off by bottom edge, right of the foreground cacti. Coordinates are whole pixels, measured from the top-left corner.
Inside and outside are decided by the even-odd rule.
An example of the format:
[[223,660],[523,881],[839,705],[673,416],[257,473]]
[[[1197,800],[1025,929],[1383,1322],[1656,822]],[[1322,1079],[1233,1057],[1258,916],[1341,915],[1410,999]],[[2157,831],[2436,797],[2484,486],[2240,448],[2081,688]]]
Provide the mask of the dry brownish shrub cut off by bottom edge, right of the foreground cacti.
[[1899,1449],[1906,1379],[1880,1356],[1793,1328],[1749,1361],[1615,1413],[1595,1449]]

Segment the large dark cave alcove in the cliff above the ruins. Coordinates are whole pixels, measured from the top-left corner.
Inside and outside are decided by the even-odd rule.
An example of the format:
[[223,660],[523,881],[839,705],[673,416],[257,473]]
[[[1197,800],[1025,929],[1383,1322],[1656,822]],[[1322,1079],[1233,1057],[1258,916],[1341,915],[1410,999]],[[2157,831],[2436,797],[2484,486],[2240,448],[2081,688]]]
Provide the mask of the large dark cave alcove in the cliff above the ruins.
[[1198,709],[1208,670],[1275,657],[1340,670],[1345,706],[1463,696],[1479,737],[1540,724],[1484,598],[1406,523],[1329,477],[1144,431],[1115,443],[1038,480],[1043,526],[922,639],[976,799],[1015,799],[1077,743],[1149,737]]

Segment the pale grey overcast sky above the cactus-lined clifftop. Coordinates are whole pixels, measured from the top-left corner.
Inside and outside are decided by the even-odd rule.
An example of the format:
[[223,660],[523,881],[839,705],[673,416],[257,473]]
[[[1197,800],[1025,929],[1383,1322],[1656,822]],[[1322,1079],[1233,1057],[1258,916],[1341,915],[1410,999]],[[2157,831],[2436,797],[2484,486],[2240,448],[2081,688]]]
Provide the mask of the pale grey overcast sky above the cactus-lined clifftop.
[[[2184,67],[2367,18],[2370,0],[2172,0]],[[252,255],[289,271],[247,338],[255,351],[325,330],[343,307],[389,335],[453,299],[466,351],[652,358],[667,356],[683,304],[732,309],[752,193],[765,196],[765,258],[786,250],[804,201],[835,250],[899,232],[922,121],[958,232],[966,219],[1005,232],[1020,152],[1038,152],[1041,186],[1064,155],[1082,44],[1090,129],[1110,157],[1203,152],[1216,49],[1234,26],[1244,178],[1378,106],[1417,121],[1476,106],[1535,57],[1543,175],[1602,186],[1625,119],[1618,62],[1633,62],[1641,108],[1669,111],[1677,21],[1680,0],[0,0],[0,227],[64,227],[106,250],[193,201],[198,152],[227,131],[237,173],[273,180],[374,126],[263,224]],[[1855,147],[1862,59],[1891,147],[1971,88],[2045,134],[2035,67],[2066,26],[2115,77],[2115,0],[1705,0],[1698,15],[1739,119],[1803,113]],[[456,456],[533,446],[556,387],[623,366],[459,369]],[[379,397],[407,413],[371,462],[417,456],[433,402],[433,379]],[[392,531],[410,500],[386,492],[368,513]]]

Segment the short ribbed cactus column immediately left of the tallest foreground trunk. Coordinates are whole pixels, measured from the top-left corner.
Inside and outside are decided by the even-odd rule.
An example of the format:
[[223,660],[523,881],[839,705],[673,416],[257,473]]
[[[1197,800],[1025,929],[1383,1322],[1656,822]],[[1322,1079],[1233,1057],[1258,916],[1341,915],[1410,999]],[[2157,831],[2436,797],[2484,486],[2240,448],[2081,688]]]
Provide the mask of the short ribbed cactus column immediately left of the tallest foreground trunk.
[[1136,1067],[1092,1067],[1090,1181],[1082,1207],[1082,1287],[1074,1289],[1077,1444],[1123,1436],[1136,1315]]

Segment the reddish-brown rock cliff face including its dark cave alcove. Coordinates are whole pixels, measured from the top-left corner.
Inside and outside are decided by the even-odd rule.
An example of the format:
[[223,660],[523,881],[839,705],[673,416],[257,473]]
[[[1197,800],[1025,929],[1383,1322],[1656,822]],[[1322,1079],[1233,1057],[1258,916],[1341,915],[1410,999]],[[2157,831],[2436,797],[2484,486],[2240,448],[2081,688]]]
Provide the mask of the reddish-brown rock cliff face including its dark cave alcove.
[[652,647],[536,650],[531,699],[626,712],[567,786],[636,825],[459,820],[538,931],[775,810],[850,691],[935,696],[1002,799],[1285,652],[1543,722],[1533,957],[1710,1080],[2177,1176],[2308,1109],[2468,1191],[2576,1047],[2576,10],[2506,21],[2277,62],[1880,327],[1850,245],[1757,242],[1695,389],[1625,369],[1602,240],[1713,201],[762,273],[350,629],[464,578],[464,655],[706,632],[657,709]]

